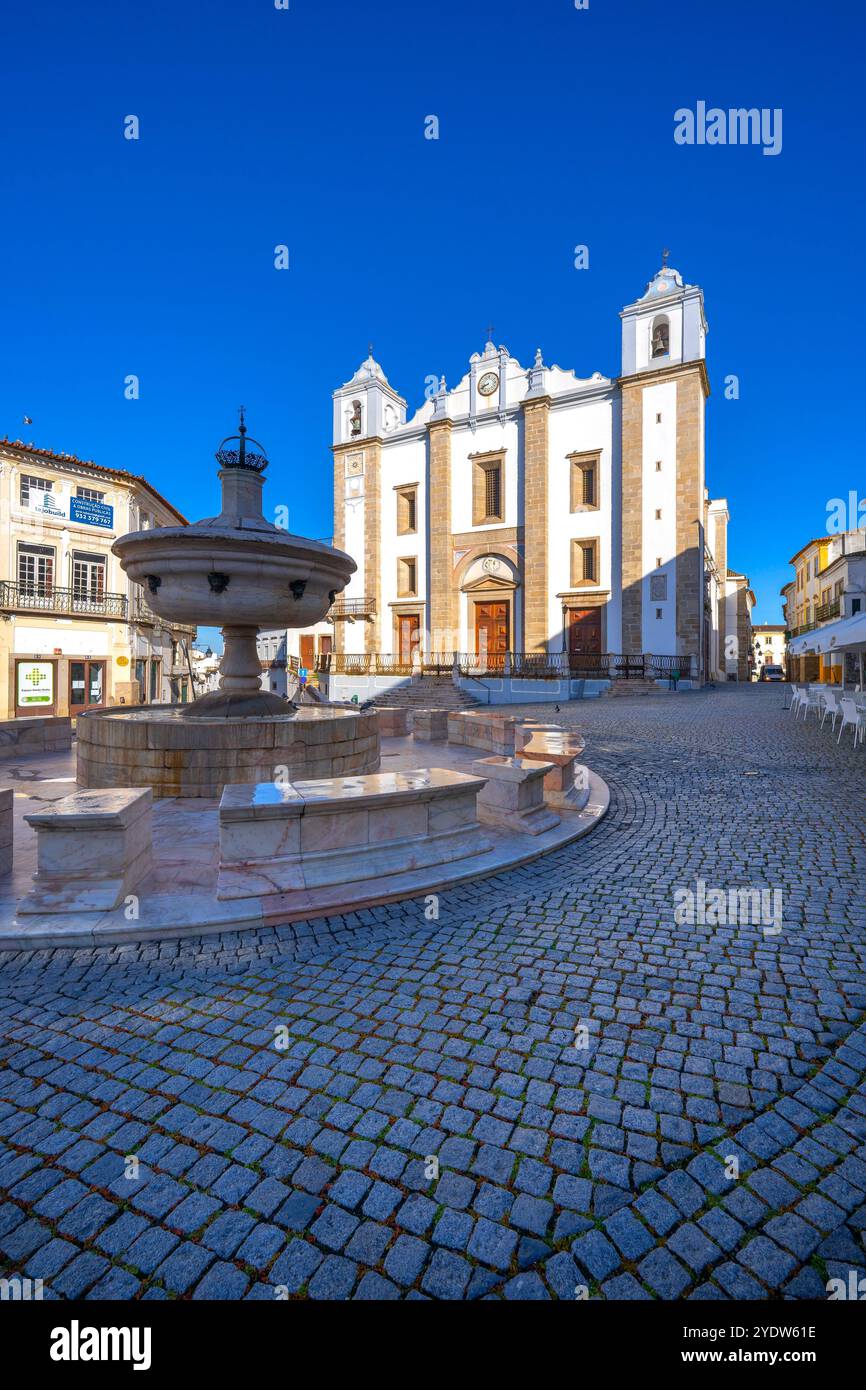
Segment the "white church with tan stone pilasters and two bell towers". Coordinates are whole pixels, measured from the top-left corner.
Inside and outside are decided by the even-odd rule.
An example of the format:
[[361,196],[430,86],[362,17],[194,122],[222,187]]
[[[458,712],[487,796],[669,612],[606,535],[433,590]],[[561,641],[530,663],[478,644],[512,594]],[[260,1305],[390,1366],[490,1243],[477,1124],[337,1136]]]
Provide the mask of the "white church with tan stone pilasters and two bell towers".
[[705,480],[702,291],[663,265],[620,318],[617,377],[488,342],[411,417],[373,356],[334,392],[334,543],[357,562],[335,652],[746,678],[748,581]]

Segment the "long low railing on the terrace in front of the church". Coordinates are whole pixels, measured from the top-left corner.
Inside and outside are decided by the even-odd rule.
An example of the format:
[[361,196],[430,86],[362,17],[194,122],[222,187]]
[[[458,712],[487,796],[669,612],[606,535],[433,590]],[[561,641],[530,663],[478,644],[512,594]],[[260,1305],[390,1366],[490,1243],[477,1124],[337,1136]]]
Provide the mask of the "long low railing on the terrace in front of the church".
[[317,670],[332,676],[520,676],[528,680],[695,680],[694,656],[653,656],[648,652],[428,652],[411,657],[395,652],[325,652]]

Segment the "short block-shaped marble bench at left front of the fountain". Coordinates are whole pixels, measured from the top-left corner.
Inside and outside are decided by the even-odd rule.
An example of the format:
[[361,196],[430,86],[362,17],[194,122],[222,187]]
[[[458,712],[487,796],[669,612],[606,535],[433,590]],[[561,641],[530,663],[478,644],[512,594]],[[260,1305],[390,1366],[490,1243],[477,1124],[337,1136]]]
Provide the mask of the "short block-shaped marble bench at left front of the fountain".
[[110,912],[152,866],[150,788],[78,791],[24,819],[36,831],[33,888],[18,912]]

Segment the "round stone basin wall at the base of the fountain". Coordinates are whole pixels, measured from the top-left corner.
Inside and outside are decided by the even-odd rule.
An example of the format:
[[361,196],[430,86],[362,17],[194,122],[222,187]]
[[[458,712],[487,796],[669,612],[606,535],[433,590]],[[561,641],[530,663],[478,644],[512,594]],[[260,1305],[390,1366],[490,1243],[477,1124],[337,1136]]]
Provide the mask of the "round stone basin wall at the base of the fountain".
[[259,719],[209,719],[189,717],[188,709],[149,705],[79,714],[79,787],[152,787],[154,796],[220,796],[227,783],[378,771],[375,710],[303,705],[296,713]]

